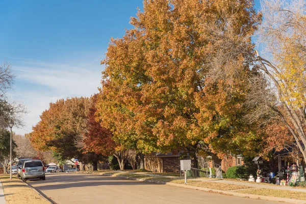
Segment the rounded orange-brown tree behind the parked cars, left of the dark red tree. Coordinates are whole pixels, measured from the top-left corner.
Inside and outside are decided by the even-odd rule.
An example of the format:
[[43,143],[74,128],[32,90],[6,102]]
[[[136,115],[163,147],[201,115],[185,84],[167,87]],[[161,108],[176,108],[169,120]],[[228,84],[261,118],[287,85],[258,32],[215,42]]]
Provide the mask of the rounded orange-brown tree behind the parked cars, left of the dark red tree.
[[53,150],[62,159],[81,157],[78,142],[87,126],[89,99],[73,97],[50,103],[33,126],[30,141],[37,150]]

